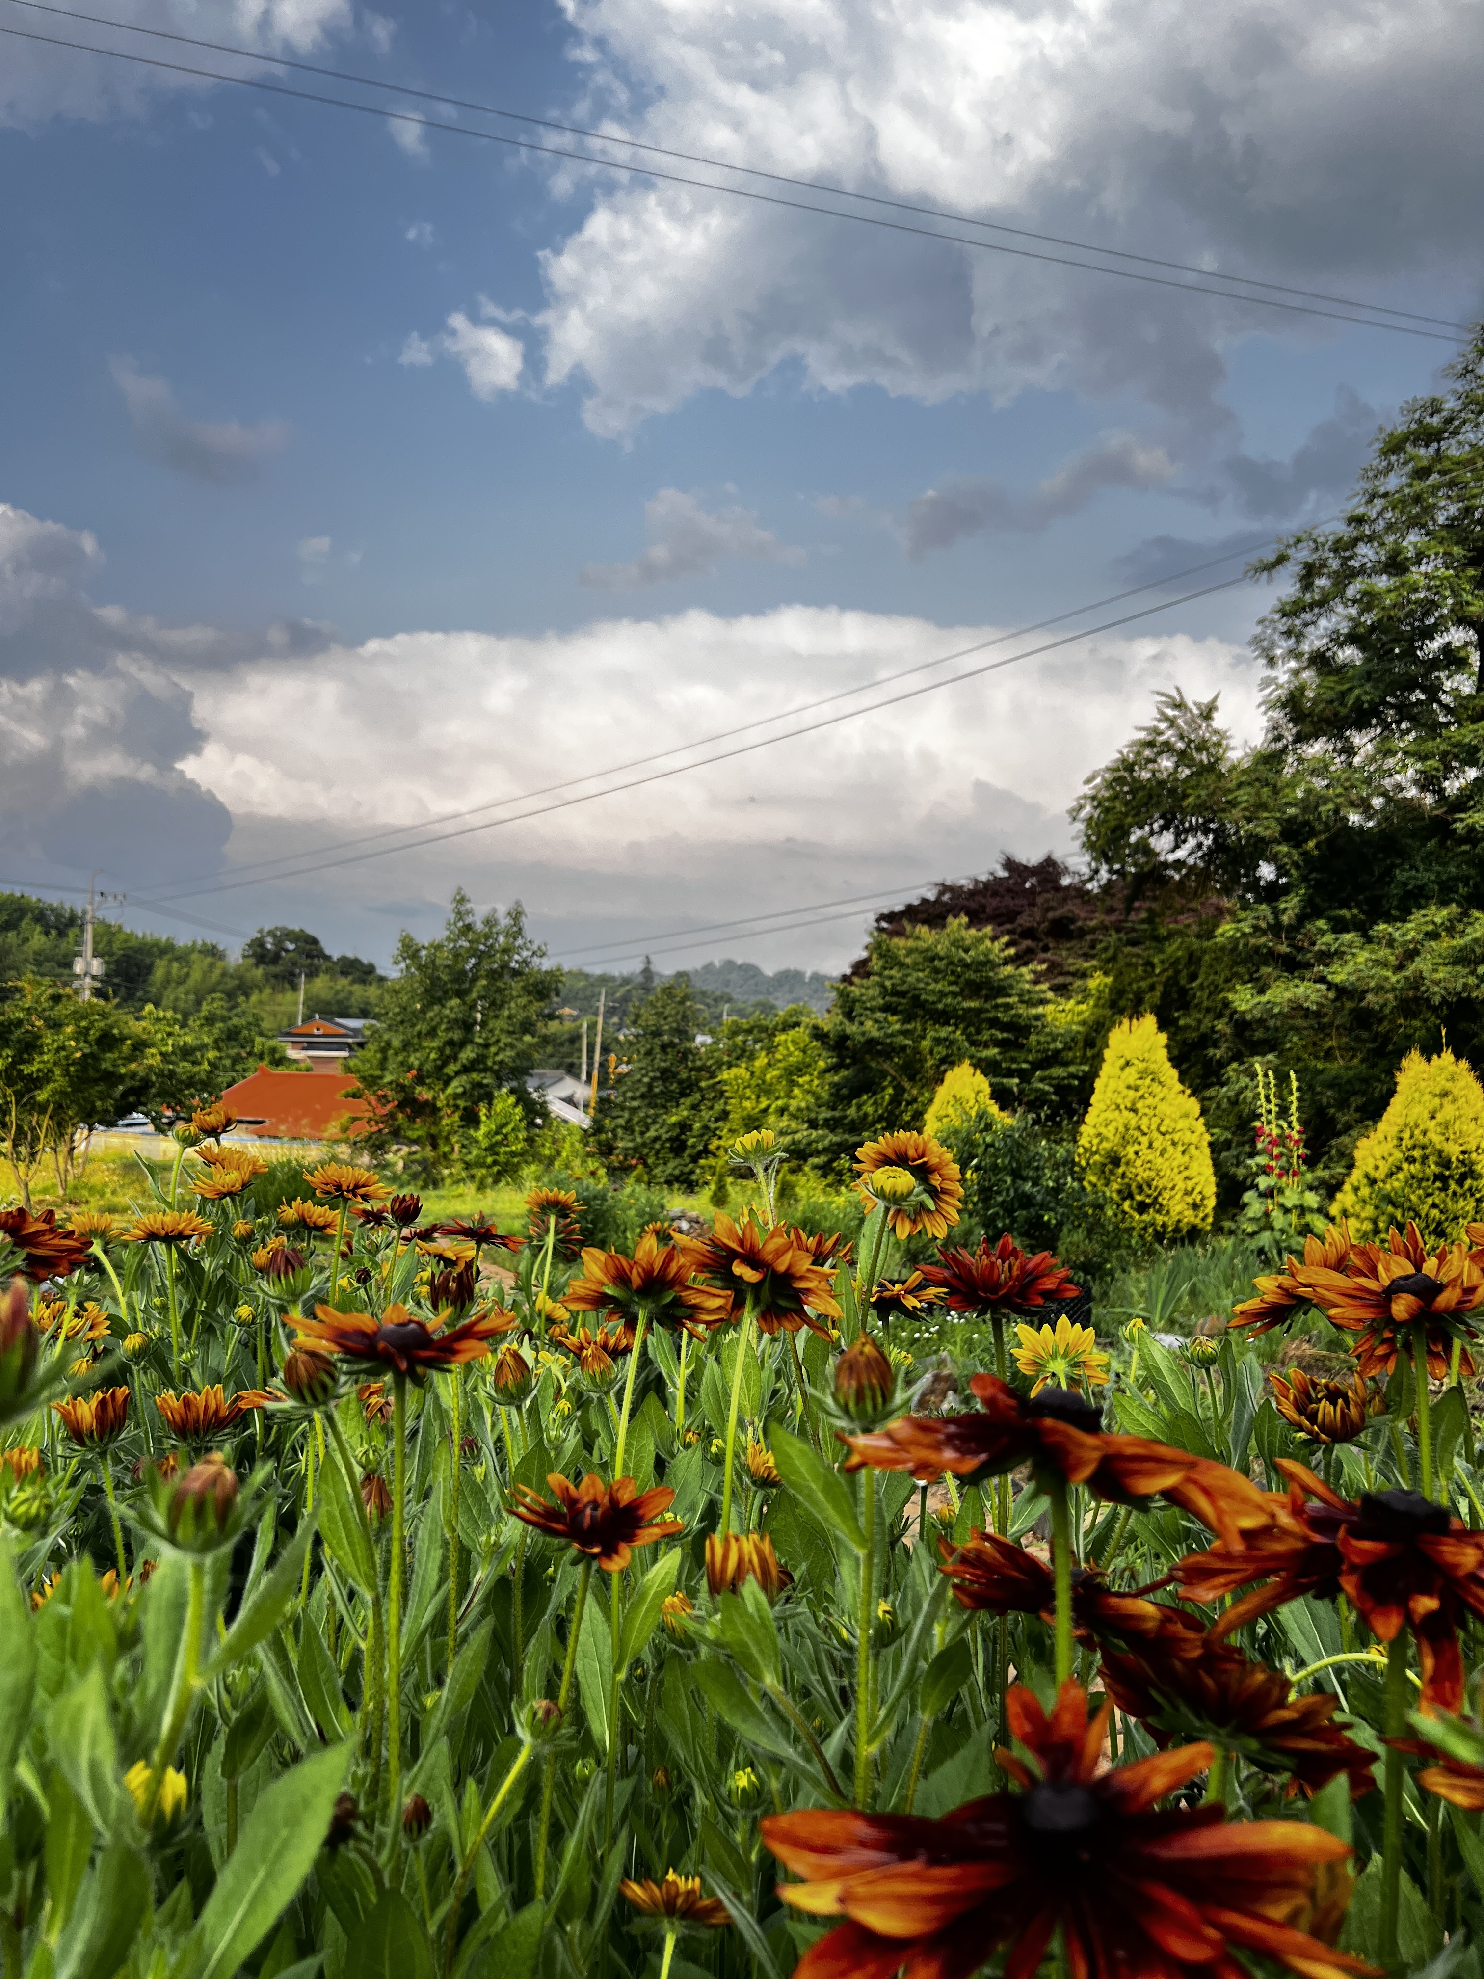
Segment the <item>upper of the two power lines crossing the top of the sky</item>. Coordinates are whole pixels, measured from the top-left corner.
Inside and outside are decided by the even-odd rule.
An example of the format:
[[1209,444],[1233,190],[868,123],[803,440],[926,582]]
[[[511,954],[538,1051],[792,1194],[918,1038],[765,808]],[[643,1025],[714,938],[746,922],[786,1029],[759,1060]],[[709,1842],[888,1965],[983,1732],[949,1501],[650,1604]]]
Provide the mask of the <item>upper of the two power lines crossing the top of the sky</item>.
[[[1078,253],[1100,253],[1116,261],[1138,261],[1144,267],[1163,267],[1179,275],[1203,275],[1207,281],[1241,281],[1254,289],[1272,289],[1276,295],[1296,295],[1312,303],[1334,303],[1340,309],[1363,309],[1383,317],[1399,317],[1409,323],[1435,323],[1440,329],[1472,332],[1472,325],[1454,323],[1450,317],[1429,317],[1415,309],[1391,309],[1385,303],[1357,303],[1347,295],[1328,295],[1322,289],[1298,289],[1286,281],[1264,281],[1260,275],[1227,275],[1223,269],[1195,267],[1189,261],[1167,261],[1159,255],[1132,253],[1124,247],[1100,247],[1096,241],[1068,239],[1063,234],[1041,234],[1035,228],[1013,228],[1003,220],[979,220],[975,214],[962,214],[954,208],[942,206],[918,206],[910,200],[890,200],[875,192],[853,192],[849,186],[831,186],[815,178],[795,178],[789,172],[770,172],[756,164],[736,164],[730,158],[710,158],[704,152],[677,150],[669,144],[649,144],[643,139],[621,137],[613,131],[592,131],[586,125],[556,123],[550,117],[532,117],[526,111],[507,111],[495,103],[471,103],[465,97],[441,95],[435,89],[416,89],[412,83],[388,83],[378,75],[358,75],[352,69],[328,69],[317,61],[299,61],[291,55],[267,55],[255,47],[237,47],[232,42],[208,42],[194,34],[174,34],[166,28],[144,28],[131,20],[113,20],[107,14],[83,14],[77,8],[49,6],[47,0],[10,0],[12,6],[24,6],[34,14],[55,14],[61,20],[85,20],[95,28],[119,28],[127,34],[146,34],[156,42],[176,42],[184,47],[206,47],[218,55],[237,55],[243,61],[265,61],[279,69],[297,69],[303,75],[323,75],[336,83],[358,83],[364,89],[386,89],[400,97],[416,97],[419,103],[441,103],[447,109],[475,111],[479,117],[503,117],[509,123],[532,125],[538,131],[556,131],[564,137],[582,137],[600,144],[621,144],[625,150],[641,150],[651,158],[677,158],[683,164],[704,164],[708,170],[716,172],[738,172],[744,178],[766,178],[776,186],[793,186],[799,192],[823,192],[837,200],[859,200],[865,206],[882,206],[898,214],[918,214],[924,220],[948,220],[954,226],[987,228],[995,234],[1011,234],[1017,239],[1045,241],[1051,247],[1074,247]],[[77,46],[77,44],[67,44]],[[105,51],[107,53],[107,51]],[[224,77],[224,81],[233,81],[235,77]],[[615,170],[633,170],[633,166],[605,162]],[[687,180],[691,184],[691,180]],[[728,188],[714,188],[728,190]],[[1112,271],[1110,271],[1112,273]],[[1223,293],[1223,291],[1211,291]],[[1379,327],[1379,325],[1377,325]]]

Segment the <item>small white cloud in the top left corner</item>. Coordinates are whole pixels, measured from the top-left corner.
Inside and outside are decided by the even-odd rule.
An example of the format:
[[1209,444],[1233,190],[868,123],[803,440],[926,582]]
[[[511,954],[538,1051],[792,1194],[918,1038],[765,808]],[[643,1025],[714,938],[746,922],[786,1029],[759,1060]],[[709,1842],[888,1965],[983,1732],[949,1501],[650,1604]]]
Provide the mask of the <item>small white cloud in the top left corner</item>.
[[[279,55],[311,55],[354,26],[350,0],[192,0],[188,10],[172,0],[115,0],[107,12],[123,24],[166,32],[184,28],[202,40]],[[257,61],[233,63],[232,55],[216,55],[214,65],[224,73],[261,73]],[[0,63],[0,125],[26,129],[49,117],[142,117],[162,95],[200,95],[210,87],[168,69],[8,38]]]

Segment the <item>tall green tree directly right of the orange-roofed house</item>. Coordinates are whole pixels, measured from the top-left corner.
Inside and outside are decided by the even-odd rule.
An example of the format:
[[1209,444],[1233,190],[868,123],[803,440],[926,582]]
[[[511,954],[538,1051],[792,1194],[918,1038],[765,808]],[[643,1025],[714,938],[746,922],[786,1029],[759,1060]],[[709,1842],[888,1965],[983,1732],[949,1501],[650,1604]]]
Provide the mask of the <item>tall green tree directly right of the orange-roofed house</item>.
[[481,1108],[509,1090],[536,1118],[524,1075],[562,972],[526,934],[520,902],[475,916],[459,889],[431,942],[404,934],[398,976],[382,991],[374,1029],[354,1061],[376,1108],[372,1144],[408,1146],[431,1172],[457,1170]]

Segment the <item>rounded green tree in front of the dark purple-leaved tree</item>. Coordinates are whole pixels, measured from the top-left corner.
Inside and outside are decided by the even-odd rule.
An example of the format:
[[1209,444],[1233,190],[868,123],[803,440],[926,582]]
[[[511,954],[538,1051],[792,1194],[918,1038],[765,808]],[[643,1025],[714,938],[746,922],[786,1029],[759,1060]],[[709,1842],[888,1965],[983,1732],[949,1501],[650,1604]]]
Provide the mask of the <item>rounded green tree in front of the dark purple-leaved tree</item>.
[[831,1166],[863,1140],[920,1126],[938,1081],[964,1061],[1011,1106],[1055,1114],[1076,1086],[1049,991],[1007,940],[966,920],[873,936],[865,974],[837,988],[819,1039],[827,1084],[809,1152]]

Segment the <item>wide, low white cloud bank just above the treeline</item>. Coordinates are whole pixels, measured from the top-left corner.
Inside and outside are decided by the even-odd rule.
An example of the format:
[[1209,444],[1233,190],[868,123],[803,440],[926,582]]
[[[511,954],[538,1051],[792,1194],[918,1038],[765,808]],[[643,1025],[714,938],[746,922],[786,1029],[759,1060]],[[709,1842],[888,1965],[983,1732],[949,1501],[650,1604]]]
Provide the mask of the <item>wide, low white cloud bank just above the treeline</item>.
[[[267,857],[510,800],[991,631],[803,606],[607,619],[546,637],[410,631],[192,675],[208,742],[186,768],[232,809],[232,855]],[[1258,669],[1245,651],[1179,635],[1092,639],[714,768],[328,869],[289,898],[237,898],[259,902],[259,918],[293,904],[323,920],[388,900],[402,914],[410,900],[431,932],[465,885],[481,902],[520,896],[556,948],[985,871],[1005,849],[1070,849],[1065,805],[1148,720],[1154,691],[1175,683],[1223,693],[1227,718],[1258,732]],[[287,724],[285,707],[297,710]],[[461,766],[457,790],[449,762]],[[867,918],[732,946],[839,966]],[[695,960],[712,952],[728,952],[726,936]]]

